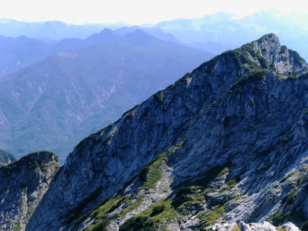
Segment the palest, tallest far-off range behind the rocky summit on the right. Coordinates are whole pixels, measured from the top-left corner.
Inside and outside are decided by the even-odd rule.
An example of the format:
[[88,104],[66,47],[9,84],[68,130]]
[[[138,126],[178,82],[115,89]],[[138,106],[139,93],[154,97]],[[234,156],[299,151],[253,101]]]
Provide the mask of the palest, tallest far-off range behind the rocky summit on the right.
[[264,10],[237,18],[234,14],[219,12],[201,18],[175,19],[155,25],[155,28],[174,34],[180,41],[206,43],[208,41],[240,45],[265,33],[274,32],[281,41],[308,59],[307,15],[283,15],[279,10]]

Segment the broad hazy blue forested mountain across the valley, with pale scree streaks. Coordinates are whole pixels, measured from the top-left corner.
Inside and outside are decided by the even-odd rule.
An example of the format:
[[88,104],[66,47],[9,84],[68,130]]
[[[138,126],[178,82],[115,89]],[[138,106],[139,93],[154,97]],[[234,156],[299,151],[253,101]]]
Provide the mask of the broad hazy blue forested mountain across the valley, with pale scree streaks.
[[18,156],[51,150],[63,161],[91,131],[213,57],[141,30],[102,33],[116,42],[59,52],[0,79],[1,148]]

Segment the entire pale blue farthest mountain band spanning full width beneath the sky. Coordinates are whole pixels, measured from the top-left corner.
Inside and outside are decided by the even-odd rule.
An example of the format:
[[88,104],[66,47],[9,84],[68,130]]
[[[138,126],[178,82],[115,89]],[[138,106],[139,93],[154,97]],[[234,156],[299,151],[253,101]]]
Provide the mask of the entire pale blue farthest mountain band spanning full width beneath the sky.
[[116,31],[120,34],[133,32],[139,28],[163,40],[220,54],[248,43],[255,37],[274,32],[279,35],[285,45],[298,50],[305,59],[308,59],[308,44],[305,42],[308,40],[307,22],[307,14],[284,15],[277,9],[263,10],[243,18],[232,13],[218,12],[200,18],[178,18],[156,25],[140,25],[139,27],[130,27],[124,23],[72,25],[59,21],[23,23],[4,19],[0,23],[0,34],[13,37],[26,35],[53,43],[53,40],[67,37],[85,38],[106,27],[117,29]]

